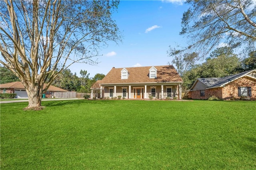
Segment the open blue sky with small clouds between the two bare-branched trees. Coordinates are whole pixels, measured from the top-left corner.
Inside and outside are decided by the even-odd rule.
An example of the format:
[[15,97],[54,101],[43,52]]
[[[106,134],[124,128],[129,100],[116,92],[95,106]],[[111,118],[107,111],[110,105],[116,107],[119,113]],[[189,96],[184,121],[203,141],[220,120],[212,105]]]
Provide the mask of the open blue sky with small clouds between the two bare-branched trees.
[[94,77],[96,73],[106,75],[112,67],[167,65],[172,60],[167,54],[169,45],[186,45],[179,32],[187,9],[182,0],[121,0],[113,19],[122,31],[122,42],[109,42],[100,51],[98,65],[75,63],[69,69],[78,77],[81,69]]

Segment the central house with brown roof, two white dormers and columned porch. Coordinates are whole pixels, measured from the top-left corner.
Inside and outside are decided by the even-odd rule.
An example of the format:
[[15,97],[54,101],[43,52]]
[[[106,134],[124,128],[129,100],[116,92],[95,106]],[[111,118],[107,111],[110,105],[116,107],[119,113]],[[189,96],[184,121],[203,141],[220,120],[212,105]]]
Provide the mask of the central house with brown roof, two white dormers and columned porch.
[[126,99],[181,99],[183,81],[172,65],[149,67],[113,67],[92,87],[100,91],[100,97],[124,97]]

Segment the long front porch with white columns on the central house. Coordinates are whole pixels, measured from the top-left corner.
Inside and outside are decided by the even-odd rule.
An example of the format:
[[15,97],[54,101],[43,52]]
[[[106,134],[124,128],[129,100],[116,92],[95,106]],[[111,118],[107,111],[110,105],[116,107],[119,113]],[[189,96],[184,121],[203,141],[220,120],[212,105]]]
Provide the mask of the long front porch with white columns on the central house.
[[[104,89],[104,90],[103,90]],[[100,86],[99,95],[97,97],[115,98],[121,96],[125,99],[181,99],[181,83],[168,85],[113,85]],[[92,90],[93,93],[93,90]]]

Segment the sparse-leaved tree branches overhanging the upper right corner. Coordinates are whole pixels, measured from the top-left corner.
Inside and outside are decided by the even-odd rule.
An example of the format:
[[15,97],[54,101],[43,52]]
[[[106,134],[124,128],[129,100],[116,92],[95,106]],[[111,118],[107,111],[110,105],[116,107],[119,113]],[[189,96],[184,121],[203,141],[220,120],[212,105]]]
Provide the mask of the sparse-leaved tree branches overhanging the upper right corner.
[[180,35],[190,41],[180,50],[193,49],[206,54],[220,43],[255,50],[255,0],[187,0],[186,3],[190,8],[183,14]]

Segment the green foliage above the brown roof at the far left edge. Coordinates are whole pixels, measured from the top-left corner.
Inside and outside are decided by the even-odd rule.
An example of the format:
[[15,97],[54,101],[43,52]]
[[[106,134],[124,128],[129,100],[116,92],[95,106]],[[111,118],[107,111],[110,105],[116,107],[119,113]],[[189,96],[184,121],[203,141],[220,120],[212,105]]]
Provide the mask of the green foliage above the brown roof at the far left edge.
[[8,70],[6,67],[0,66],[0,84],[11,83],[15,81],[20,81],[19,78]]

